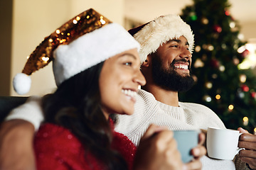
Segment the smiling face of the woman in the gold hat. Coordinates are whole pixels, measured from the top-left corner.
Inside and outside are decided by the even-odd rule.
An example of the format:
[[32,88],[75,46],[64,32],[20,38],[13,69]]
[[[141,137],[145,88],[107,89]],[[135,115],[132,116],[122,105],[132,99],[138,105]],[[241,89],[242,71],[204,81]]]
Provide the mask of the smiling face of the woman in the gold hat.
[[134,112],[138,86],[146,80],[140,72],[137,49],[127,50],[106,60],[100,73],[102,111],[131,115]]

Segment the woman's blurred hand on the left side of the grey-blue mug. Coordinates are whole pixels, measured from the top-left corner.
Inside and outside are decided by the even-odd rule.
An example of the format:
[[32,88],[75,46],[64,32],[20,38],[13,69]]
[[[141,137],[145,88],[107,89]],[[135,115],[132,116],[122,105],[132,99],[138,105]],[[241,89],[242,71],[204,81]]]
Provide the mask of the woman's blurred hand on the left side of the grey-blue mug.
[[150,125],[139,143],[134,169],[183,169],[174,133],[167,128]]

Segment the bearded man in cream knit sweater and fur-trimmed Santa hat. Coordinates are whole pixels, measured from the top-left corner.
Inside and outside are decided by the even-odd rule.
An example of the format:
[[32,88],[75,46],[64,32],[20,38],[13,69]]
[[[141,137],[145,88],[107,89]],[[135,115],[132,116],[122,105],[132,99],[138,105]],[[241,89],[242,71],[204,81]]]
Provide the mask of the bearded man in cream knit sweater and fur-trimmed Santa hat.
[[[146,85],[139,91],[134,115],[119,116],[117,131],[138,145],[151,123],[165,125],[171,130],[200,128],[206,132],[210,126],[225,128],[220,118],[206,106],[178,102],[178,92],[187,91],[193,85],[190,26],[179,16],[169,15],[129,30],[129,33],[142,45],[139,55]],[[245,130],[240,129],[240,132]],[[245,150],[234,162],[203,157],[203,169],[256,169],[256,135],[245,132],[240,137],[239,147]]]

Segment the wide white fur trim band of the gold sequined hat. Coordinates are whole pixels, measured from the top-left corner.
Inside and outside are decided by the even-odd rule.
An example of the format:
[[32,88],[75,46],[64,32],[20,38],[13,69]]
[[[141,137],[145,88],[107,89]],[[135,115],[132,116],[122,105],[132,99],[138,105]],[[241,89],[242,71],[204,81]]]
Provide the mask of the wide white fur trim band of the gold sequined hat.
[[137,48],[139,43],[117,23],[80,36],[68,45],[59,45],[53,52],[53,73],[59,86],[87,68],[121,52]]

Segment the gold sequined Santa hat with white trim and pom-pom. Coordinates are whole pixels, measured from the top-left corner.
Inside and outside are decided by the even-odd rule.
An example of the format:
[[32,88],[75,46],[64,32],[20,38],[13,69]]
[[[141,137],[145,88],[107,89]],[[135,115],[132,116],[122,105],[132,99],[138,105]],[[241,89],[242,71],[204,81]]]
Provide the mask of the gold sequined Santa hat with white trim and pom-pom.
[[70,19],[41,42],[29,56],[22,73],[13,80],[14,90],[26,94],[31,75],[53,60],[55,83],[63,81],[139,43],[127,30],[90,8]]

